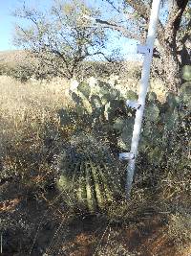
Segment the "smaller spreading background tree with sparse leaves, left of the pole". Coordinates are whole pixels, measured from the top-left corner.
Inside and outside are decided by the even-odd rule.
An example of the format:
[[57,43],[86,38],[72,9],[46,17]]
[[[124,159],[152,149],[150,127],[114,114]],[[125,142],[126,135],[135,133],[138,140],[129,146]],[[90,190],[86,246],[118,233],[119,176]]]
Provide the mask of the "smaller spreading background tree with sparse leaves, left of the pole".
[[92,26],[86,18],[95,17],[98,12],[81,1],[54,1],[49,12],[24,4],[13,14],[28,21],[26,27],[16,26],[14,43],[38,59],[42,73],[48,69],[53,75],[71,79],[84,59],[103,55],[107,36],[103,28]]

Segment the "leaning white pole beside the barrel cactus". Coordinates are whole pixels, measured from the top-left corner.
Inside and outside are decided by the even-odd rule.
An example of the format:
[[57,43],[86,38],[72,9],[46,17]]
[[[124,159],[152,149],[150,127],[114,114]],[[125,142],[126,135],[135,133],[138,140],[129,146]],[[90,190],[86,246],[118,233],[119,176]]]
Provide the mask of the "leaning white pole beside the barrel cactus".
[[142,117],[143,117],[144,106],[145,106],[145,98],[146,98],[148,84],[149,84],[154,43],[157,35],[160,2],[161,0],[153,0],[152,9],[151,9],[149,30],[148,30],[147,40],[146,40],[146,47],[148,51],[147,53],[145,52],[145,57],[144,57],[143,66],[142,66],[142,73],[141,73],[140,91],[138,96],[138,105],[140,106],[138,107],[136,112],[136,119],[135,119],[135,125],[134,125],[134,131],[133,131],[133,137],[132,137],[132,143],[131,143],[131,153],[133,153],[134,157],[132,159],[129,159],[129,164],[127,168],[127,181],[126,181],[127,198],[130,198],[132,182],[134,178],[135,165],[136,165],[136,157],[138,155],[138,141],[139,141],[139,135],[141,131],[141,123],[142,123]]

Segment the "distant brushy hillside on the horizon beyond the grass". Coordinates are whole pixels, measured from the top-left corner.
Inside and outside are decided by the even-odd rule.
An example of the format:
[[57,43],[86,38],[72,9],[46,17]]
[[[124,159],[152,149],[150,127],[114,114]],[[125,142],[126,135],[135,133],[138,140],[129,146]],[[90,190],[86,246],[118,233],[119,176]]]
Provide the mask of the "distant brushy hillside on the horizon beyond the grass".
[[[122,79],[138,78],[140,76],[141,63],[138,61],[83,61],[77,70],[77,77],[87,78],[90,76],[109,77],[119,75]],[[29,52],[24,50],[0,52],[0,75],[14,77],[20,81],[27,81],[31,77],[46,79],[56,76],[63,76],[63,67],[46,65],[30,57]]]

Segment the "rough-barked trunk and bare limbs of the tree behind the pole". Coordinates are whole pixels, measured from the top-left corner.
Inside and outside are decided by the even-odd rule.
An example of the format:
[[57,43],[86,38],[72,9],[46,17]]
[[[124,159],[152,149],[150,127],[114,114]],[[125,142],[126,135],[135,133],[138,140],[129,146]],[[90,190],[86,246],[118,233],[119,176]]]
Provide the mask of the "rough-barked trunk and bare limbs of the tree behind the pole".
[[[110,5],[114,7],[115,1],[106,0]],[[180,69],[183,63],[189,63],[189,58],[180,59],[183,55],[185,56],[186,48],[185,41],[186,37],[189,34],[187,31],[184,36],[184,49],[180,48],[180,38],[178,33],[180,32],[180,24],[182,19],[182,14],[186,9],[186,6],[190,0],[168,0],[168,15],[167,21],[161,22],[159,21],[159,30],[158,30],[158,45],[157,45],[157,55],[154,51],[154,57],[156,55],[157,59],[154,59],[154,68],[155,73],[158,74],[164,81],[166,81],[166,86],[169,91],[173,91],[177,93],[179,91],[181,85],[181,75]],[[143,0],[124,0],[126,3],[126,7],[131,7],[136,13],[138,13],[137,18],[136,15],[127,15],[132,18],[135,24],[138,23],[139,31],[134,32],[131,30],[131,25],[129,30],[120,26],[120,24],[110,23],[107,21],[96,19],[98,23],[102,23],[107,25],[107,28],[112,28],[114,30],[120,31],[123,35],[137,39],[138,41],[145,41],[143,33],[147,33],[147,27],[145,29],[145,25],[148,24],[149,16],[150,16],[150,4],[152,1],[143,1]],[[164,2],[164,1],[163,1]],[[146,4],[147,3],[147,4]],[[119,10],[118,10],[119,12]],[[144,26],[141,26],[140,20],[144,20]],[[188,28],[189,28],[188,23]],[[191,25],[191,24],[190,24]],[[181,50],[182,49],[182,50]],[[181,52],[181,53],[180,53]]]

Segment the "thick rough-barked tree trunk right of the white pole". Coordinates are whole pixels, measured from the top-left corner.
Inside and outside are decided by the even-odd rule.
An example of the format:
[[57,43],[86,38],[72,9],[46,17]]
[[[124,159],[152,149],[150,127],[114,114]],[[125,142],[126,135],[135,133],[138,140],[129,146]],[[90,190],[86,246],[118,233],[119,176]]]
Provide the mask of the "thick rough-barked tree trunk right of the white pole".
[[168,21],[165,27],[159,31],[159,54],[168,89],[177,93],[181,85],[181,60],[178,53],[177,34],[180,30],[181,16],[188,0],[173,0],[169,3]]

